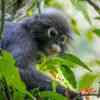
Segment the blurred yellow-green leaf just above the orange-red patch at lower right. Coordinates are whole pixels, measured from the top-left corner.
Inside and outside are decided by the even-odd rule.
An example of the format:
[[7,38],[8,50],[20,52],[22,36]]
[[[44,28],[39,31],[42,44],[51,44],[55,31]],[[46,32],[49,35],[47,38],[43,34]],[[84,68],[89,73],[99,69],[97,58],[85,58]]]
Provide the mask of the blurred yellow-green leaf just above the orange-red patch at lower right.
[[96,80],[97,76],[97,74],[93,73],[86,73],[85,75],[83,75],[79,81],[79,89],[81,90],[84,88],[90,88],[93,82]]

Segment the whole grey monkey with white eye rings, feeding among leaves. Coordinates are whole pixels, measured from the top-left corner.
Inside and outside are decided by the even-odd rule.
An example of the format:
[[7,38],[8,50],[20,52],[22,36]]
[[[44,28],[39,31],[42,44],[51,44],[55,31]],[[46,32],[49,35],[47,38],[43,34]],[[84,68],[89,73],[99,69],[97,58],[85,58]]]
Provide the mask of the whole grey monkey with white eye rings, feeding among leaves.
[[[43,53],[49,57],[63,54],[72,32],[66,16],[57,9],[48,9],[42,14],[27,17],[19,22],[5,22],[0,48],[9,51],[19,69],[22,81],[28,90],[52,91],[52,79],[39,72],[35,65],[37,56]],[[75,100],[78,93],[60,84],[56,92]],[[80,99],[81,100],[81,99]]]

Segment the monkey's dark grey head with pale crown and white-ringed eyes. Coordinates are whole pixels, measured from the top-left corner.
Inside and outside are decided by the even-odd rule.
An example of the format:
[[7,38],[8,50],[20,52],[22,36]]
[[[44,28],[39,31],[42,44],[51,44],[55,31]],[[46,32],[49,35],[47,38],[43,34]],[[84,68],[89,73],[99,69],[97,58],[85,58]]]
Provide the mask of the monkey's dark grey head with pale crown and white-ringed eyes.
[[34,16],[32,33],[40,51],[46,54],[63,53],[71,39],[71,29],[67,17],[59,10],[49,9]]

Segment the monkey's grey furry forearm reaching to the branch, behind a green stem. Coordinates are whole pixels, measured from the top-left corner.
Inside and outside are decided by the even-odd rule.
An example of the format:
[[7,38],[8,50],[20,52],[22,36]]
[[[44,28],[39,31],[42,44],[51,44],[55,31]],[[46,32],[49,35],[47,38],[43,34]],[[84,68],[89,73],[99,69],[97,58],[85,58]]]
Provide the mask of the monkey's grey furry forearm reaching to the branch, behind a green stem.
[[[20,74],[28,89],[37,87],[40,91],[52,91],[52,80],[39,73],[32,65],[28,69],[20,69]],[[70,100],[73,100],[78,95],[61,85],[57,85],[56,92],[68,96]]]

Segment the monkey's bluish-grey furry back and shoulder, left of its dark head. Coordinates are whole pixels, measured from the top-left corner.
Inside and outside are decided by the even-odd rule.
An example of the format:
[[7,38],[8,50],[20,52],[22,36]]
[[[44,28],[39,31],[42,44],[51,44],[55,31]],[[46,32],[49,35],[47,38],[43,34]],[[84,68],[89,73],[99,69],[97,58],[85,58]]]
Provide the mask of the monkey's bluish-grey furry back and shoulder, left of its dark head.
[[[36,52],[35,41],[21,23],[6,22],[3,38],[0,40],[0,48],[12,53],[19,63],[27,64],[32,61]],[[23,62],[19,62],[23,58]]]

